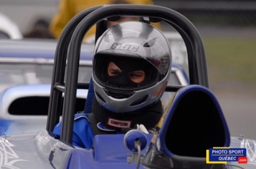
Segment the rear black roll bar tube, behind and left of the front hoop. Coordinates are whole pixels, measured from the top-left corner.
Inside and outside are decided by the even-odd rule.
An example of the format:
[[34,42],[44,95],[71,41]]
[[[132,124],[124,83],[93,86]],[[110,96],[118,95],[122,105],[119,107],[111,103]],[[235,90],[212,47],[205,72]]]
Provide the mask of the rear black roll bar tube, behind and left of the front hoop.
[[59,41],[56,45],[56,52],[53,65],[53,77],[50,89],[50,101],[47,114],[47,131],[53,131],[54,126],[59,123],[59,117],[62,114],[62,92],[56,90],[56,85],[64,85],[65,79],[65,66],[67,61],[68,46],[70,39],[76,26],[82,21],[85,16],[90,14],[96,9],[99,9],[102,5],[91,7],[88,10],[84,10],[75,17],[73,17],[65,28],[62,30],[62,34],[59,37]]

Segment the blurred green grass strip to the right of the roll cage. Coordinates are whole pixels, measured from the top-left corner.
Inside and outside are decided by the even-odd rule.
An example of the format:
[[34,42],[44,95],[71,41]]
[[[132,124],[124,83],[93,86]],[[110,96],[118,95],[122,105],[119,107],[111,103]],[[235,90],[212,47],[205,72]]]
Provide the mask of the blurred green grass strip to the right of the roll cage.
[[256,83],[256,39],[203,38],[209,80]]

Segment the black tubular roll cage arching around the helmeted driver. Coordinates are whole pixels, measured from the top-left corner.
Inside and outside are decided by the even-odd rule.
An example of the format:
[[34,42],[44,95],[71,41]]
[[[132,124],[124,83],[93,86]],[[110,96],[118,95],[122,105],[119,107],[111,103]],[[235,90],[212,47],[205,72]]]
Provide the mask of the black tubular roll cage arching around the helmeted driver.
[[[206,53],[202,38],[194,24],[185,16],[157,5],[111,4],[91,7],[73,17],[59,38],[53,66],[47,131],[52,132],[62,115],[60,139],[72,142],[76,90],[88,89],[89,83],[78,83],[79,57],[84,35],[96,24],[96,39],[107,30],[108,20],[122,15],[139,16],[144,21],[165,21],[183,38],[188,52],[189,83],[209,88]],[[177,92],[183,86],[168,86],[166,92]],[[64,100],[62,95],[64,94]]]

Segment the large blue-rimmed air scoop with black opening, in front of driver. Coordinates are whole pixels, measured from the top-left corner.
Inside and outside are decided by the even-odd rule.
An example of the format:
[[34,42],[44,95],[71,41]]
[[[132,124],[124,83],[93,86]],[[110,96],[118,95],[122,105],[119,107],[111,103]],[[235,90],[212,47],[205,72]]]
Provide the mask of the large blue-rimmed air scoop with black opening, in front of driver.
[[160,140],[169,156],[206,157],[209,148],[229,147],[229,128],[214,94],[199,85],[180,89],[161,127]]

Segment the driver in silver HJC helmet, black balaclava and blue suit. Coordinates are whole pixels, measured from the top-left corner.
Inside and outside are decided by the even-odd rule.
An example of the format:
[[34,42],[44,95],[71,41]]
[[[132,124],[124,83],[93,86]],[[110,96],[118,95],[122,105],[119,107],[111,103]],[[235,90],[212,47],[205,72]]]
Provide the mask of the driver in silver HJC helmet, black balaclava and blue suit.
[[90,149],[94,135],[123,134],[134,126],[151,131],[163,114],[160,97],[170,73],[171,48],[160,30],[140,21],[110,27],[96,41],[92,113],[75,115],[73,145]]

